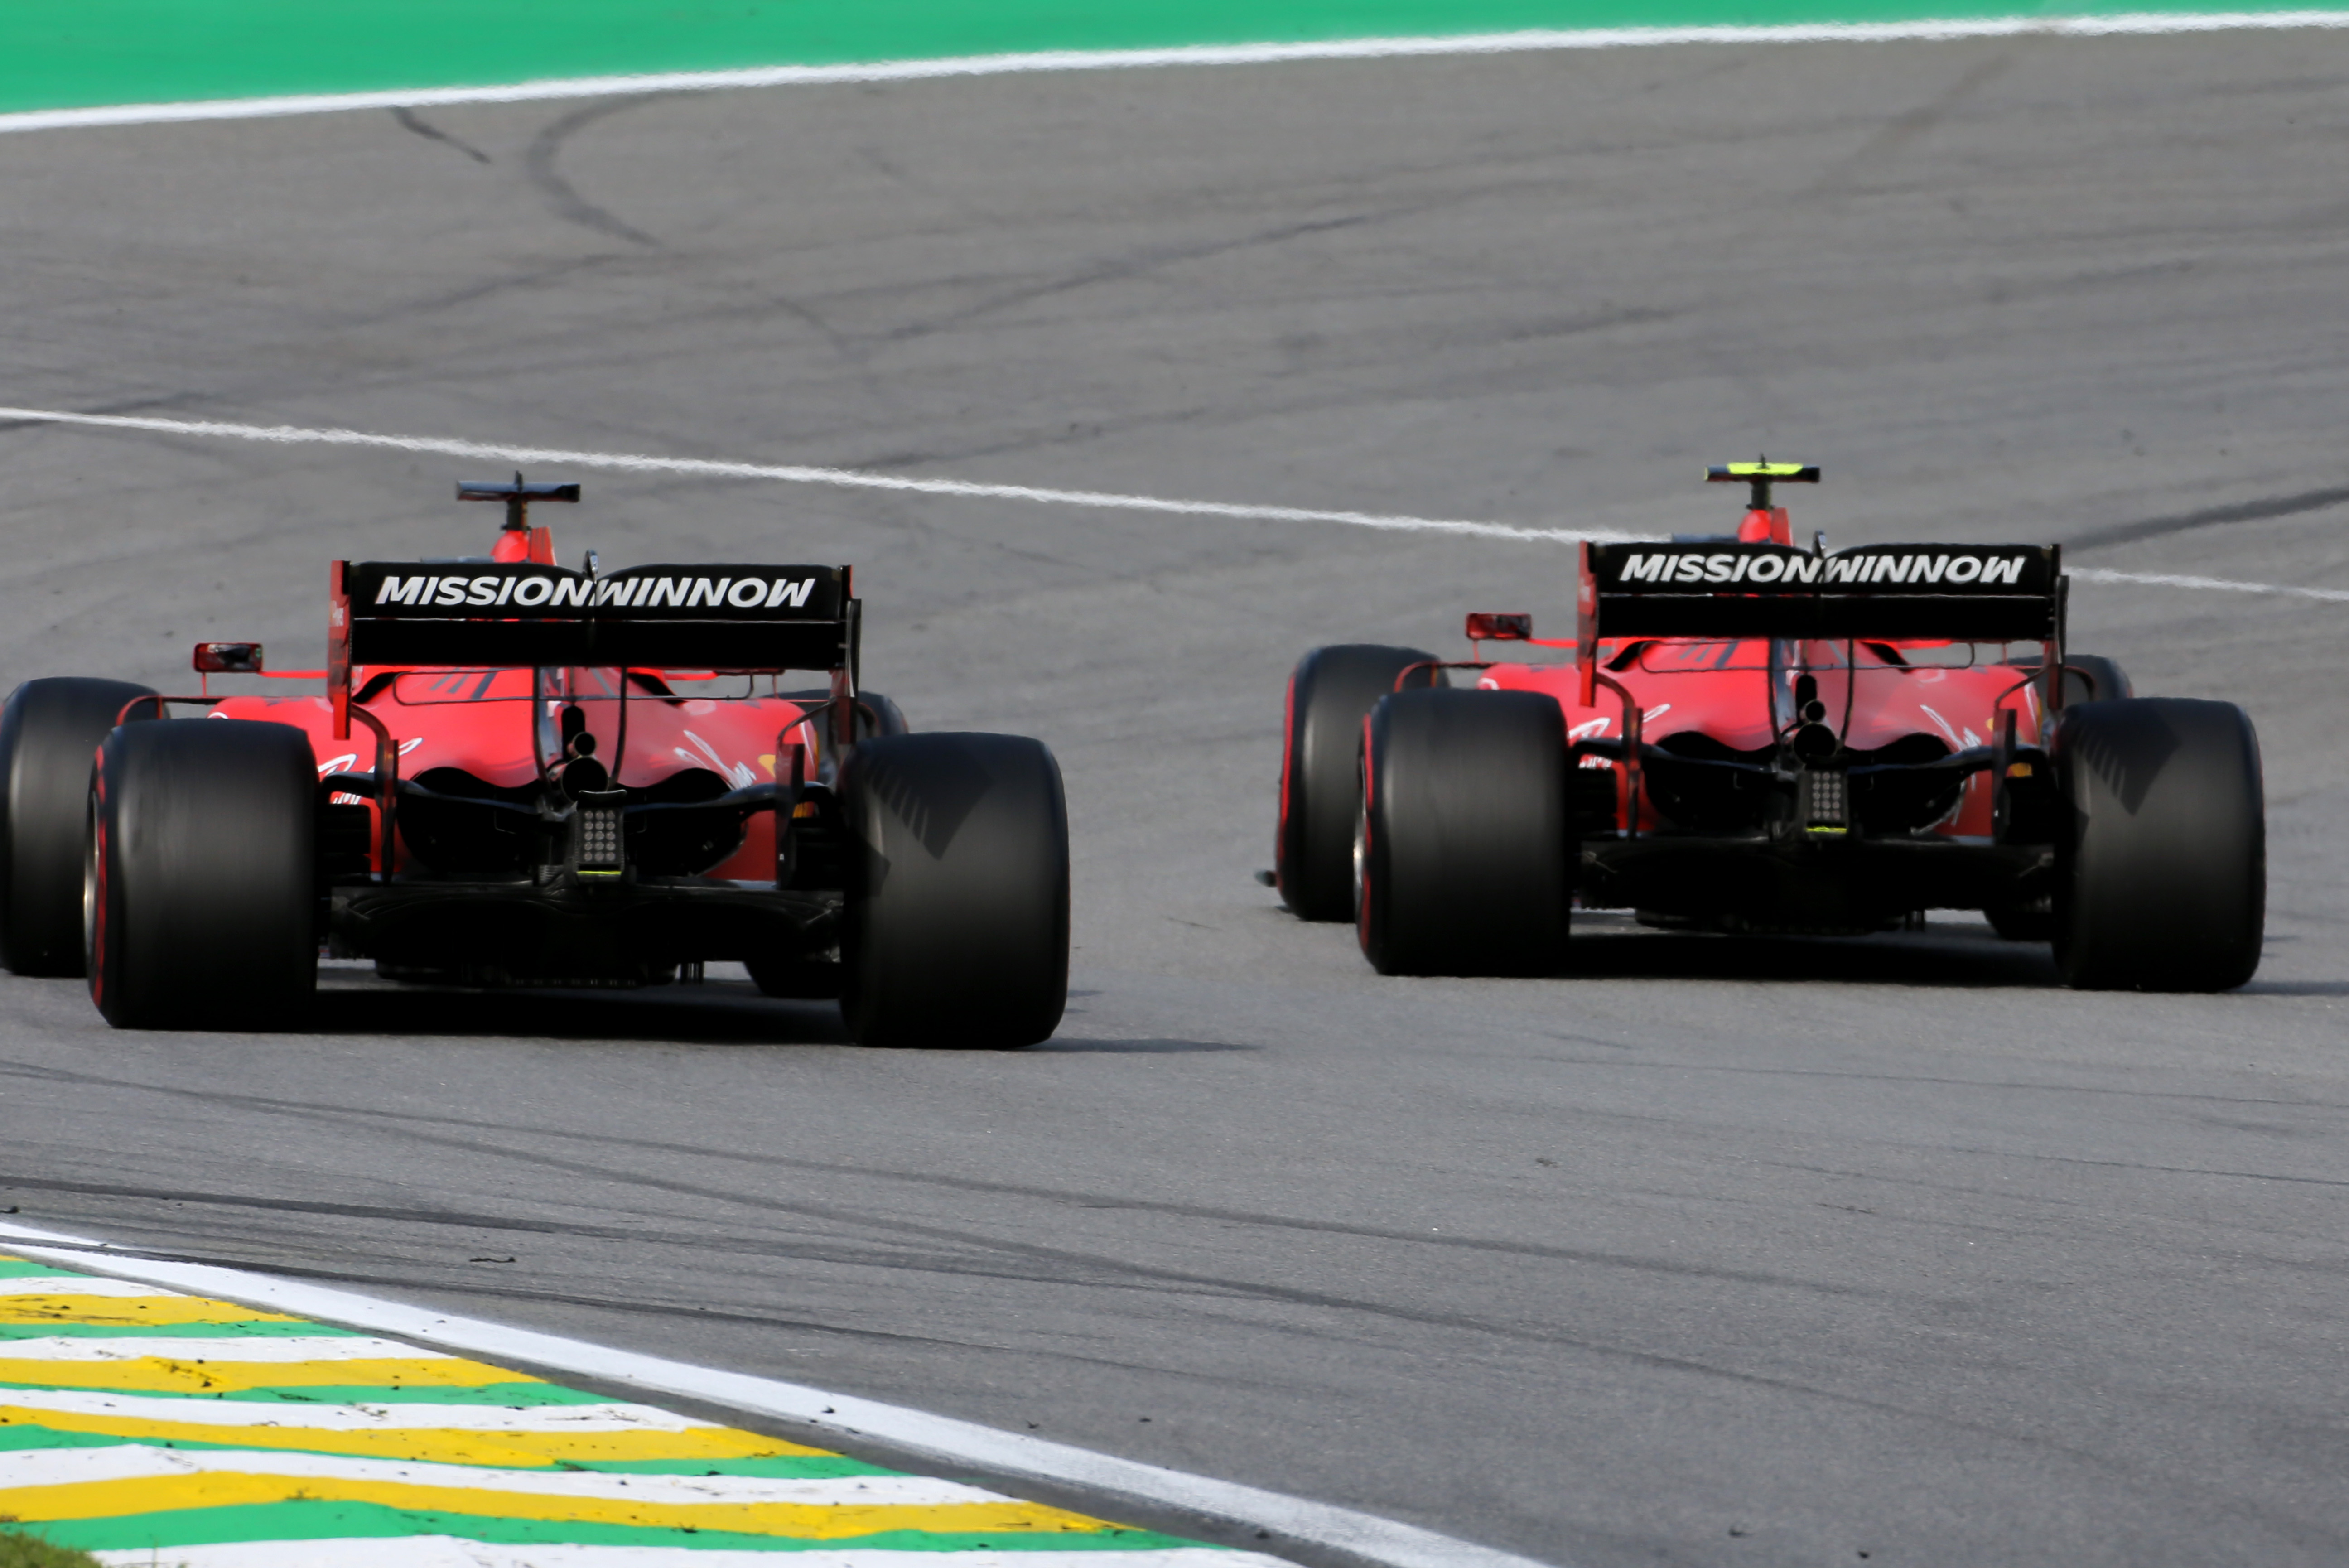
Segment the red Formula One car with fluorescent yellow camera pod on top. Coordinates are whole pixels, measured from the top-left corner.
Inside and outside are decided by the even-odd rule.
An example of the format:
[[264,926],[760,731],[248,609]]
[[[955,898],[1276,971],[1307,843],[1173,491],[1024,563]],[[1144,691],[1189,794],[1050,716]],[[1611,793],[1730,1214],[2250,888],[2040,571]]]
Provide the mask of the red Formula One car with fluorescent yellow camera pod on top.
[[[1583,545],[1574,641],[1470,615],[1475,657],[1339,646],[1290,678],[1276,885],[1384,974],[1548,974],[1569,911],[1858,934],[1926,908],[2053,941],[2081,988],[2260,965],[2260,746],[2065,650],[2053,545],[1797,549],[1741,462],[1736,535]],[[1494,641],[1571,662],[1487,662]],[[1466,685],[1454,685],[1459,676]]]

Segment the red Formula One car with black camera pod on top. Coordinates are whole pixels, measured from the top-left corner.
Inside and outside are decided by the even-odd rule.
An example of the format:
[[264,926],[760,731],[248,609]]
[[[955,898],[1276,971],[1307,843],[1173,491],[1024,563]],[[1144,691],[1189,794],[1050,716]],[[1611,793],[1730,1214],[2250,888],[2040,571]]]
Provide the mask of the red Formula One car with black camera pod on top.
[[[0,960],[117,1026],[287,1021],[319,953],[392,979],[646,986],[740,960],[871,1045],[1029,1045],[1069,976],[1059,765],[857,690],[846,566],[334,566],[324,695],[200,643],[197,697],[26,681],[0,714]],[[824,671],[785,690],[787,671]],[[167,718],[195,704],[202,718]],[[92,765],[92,756],[96,763]]]

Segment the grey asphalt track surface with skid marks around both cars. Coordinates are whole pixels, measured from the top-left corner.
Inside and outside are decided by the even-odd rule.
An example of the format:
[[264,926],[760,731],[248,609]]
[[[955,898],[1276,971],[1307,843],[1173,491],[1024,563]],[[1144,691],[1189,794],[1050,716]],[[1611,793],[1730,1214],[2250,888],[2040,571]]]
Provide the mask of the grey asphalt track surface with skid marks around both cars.
[[[2330,38],[1325,63],[0,143],[9,401],[2349,584]],[[0,674],[322,643],[442,460],[0,432]],[[552,474],[550,474],[552,477]],[[1308,646],[1555,547],[592,479],[566,559],[848,559],[869,678],[1069,775],[1027,1054],[813,1005],[395,993],[110,1033],[0,979],[23,1221],[822,1383],[1574,1563],[2349,1556],[2337,606],[2074,596],[2267,749],[2239,995],[1593,920],[1386,981],[1266,864]]]

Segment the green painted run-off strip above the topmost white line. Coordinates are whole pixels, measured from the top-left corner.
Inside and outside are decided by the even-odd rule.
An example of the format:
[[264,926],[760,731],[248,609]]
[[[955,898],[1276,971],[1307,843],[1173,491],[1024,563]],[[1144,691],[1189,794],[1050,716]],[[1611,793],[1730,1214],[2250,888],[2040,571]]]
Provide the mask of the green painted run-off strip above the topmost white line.
[[[0,113],[1029,49],[2201,12],[2180,0],[0,0]],[[2225,7],[2286,9],[2286,7]]]

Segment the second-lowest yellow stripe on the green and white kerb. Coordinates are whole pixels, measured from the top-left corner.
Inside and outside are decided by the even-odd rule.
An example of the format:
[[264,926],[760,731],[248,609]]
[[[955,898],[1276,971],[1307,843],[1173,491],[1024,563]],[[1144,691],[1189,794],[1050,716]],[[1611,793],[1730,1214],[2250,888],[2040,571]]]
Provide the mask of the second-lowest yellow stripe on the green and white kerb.
[[[0,1397],[5,1399],[5,1397]],[[0,1401],[0,1427],[47,1427],[52,1432],[89,1432],[96,1437],[134,1437],[148,1444],[204,1444],[209,1448],[291,1448],[298,1453],[348,1453],[376,1460],[428,1460],[435,1465],[496,1465],[531,1469],[543,1465],[620,1465],[632,1460],[763,1460],[822,1455],[827,1448],[801,1448],[780,1437],[756,1437],[728,1427],[693,1427],[688,1432],[449,1432],[406,1427],[390,1432],[322,1432],[291,1425],[301,1408],[287,1411],[287,1425],[216,1427],[181,1420],[136,1420],[127,1415],[82,1415],[33,1411]]]

